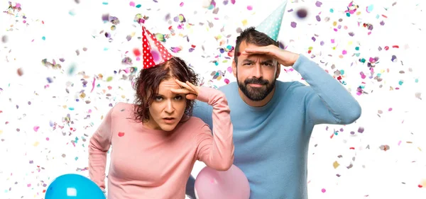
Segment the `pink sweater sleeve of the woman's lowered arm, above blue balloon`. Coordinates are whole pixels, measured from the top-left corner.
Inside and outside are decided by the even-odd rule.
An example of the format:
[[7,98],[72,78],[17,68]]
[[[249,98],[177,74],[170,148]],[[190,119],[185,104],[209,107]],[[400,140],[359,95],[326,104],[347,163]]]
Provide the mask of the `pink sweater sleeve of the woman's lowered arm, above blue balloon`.
[[111,108],[107,115],[102,120],[101,125],[89,142],[89,177],[94,183],[99,186],[102,191],[105,190],[105,169],[107,166],[107,152],[111,146],[111,122],[112,112]]

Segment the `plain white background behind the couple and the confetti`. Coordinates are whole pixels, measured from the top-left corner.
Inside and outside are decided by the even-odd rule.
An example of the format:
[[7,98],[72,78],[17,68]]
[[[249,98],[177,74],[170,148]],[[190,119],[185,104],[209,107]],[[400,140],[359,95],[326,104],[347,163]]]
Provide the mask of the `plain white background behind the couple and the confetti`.
[[[224,79],[235,81],[227,71],[230,59],[226,59],[226,52],[221,54],[218,49],[234,46],[236,28],[258,25],[282,2],[237,0],[234,5],[229,1],[225,6],[217,1],[219,11],[214,14],[206,8],[205,5],[209,5],[206,1],[158,1],[135,1],[141,8],[129,6],[129,1],[112,0],[81,0],[80,4],[71,0],[19,1],[21,12],[0,14],[0,36],[7,37],[6,42],[0,42],[0,198],[43,198],[43,190],[55,177],[70,173],[87,176],[87,171],[81,171],[87,167],[87,142],[102,121],[102,115],[109,110],[109,103],[133,101],[131,81],[122,79],[129,74],[114,74],[114,70],[141,69],[141,62],[136,62],[131,52],[133,47],[141,45],[137,40],[141,28],[133,22],[136,13],[149,16],[146,26],[152,33],[170,34],[168,27],[173,27],[175,35],[164,42],[165,47],[182,47],[182,51],[174,55],[191,64],[207,86],[216,87],[224,85]],[[416,93],[425,92],[426,86],[422,59],[426,44],[424,3],[420,0],[359,0],[354,2],[359,5],[359,14],[347,17],[344,11],[350,1],[327,0],[322,1],[320,7],[315,6],[315,2],[288,2],[278,39],[287,50],[309,57],[315,55],[312,59],[330,75],[344,70],[342,80],[363,110],[354,124],[315,127],[308,163],[309,197],[426,198],[426,132],[422,126],[425,96],[420,95],[422,100],[416,97]],[[373,10],[368,13],[366,6],[371,4]],[[2,11],[7,11],[8,6],[7,1],[0,2]],[[250,11],[247,6],[253,9]],[[304,20],[295,16],[295,10],[302,7],[308,10]],[[292,8],[294,11],[288,12]],[[334,9],[333,13],[330,8]],[[111,31],[111,23],[102,21],[104,13],[119,18],[116,30]],[[180,13],[186,22],[173,21]],[[167,14],[170,21],[165,20]],[[26,23],[23,23],[23,15]],[[320,22],[315,19],[317,15],[321,17]],[[292,21],[297,23],[297,28],[290,27]],[[342,25],[337,32],[333,30],[337,28],[334,21]],[[381,21],[385,24],[380,25]],[[213,27],[209,28],[209,23]],[[373,25],[370,35],[363,23]],[[183,29],[178,29],[180,24]],[[104,33],[99,34],[102,30],[111,33],[114,40],[109,42]],[[353,32],[354,37],[349,36],[349,32]],[[132,33],[135,36],[127,42],[126,35]],[[315,42],[311,39],[313,36]],[[321,46],[320,41],[324,41],[324,45]],[[196,46],[193,52],[188,52],[190,45]],[[385,46],[390,49],[384,50]],[[87,51],[84,52],[83,47],[87,47]],[[307,53],[309,47],[312,47],[310,54]],[[355,47],[360,47],[359,57],[354,55],[358,53]],[[378,47],[383,50],[379,51]],[[80,55],[77,56],[76,50],[80,50]],[[341,58],[342,50],[348,53]],[[126,51],[129,53],[125,54]],[[133,65],[121,64],[126,55],[133,59]],[[398,61],[392,62],[392,55]],[[370,57],[380,57],[373,75],[380,74],[383,79],[380,82],[369,79],[366,63],[359,62],[361,58],[368,62]],[[60,62],[60,58],[65,62]],[[55,59],[62,69],[45,67],[42,59],[48,62]],[[216,66],[214,61],[219,64]],[[76,67],[70,74],[73,65]],[[18,76],[19,68],[22,76]],[[224,76],[213,79],[212,72],[219,70]],[[361,79],[360,72],[366,74],[366,79]],[[300,80],[297,72],[281,74],[283,81]],[[108,76],[112,76],[111,81],[107,81]],[[50,84],[48,77],[53,79]],[[94,78],[95,88],[91,92]],[[83,80],[87,81],[87,87],[82,86]],[[399,81],[403,81],[402,86]],[[359,86],[364,86],[368,94],[357,95]],[[79,97],[83,91],[84,99]],[[76,98],[80,98],[80,102],[75,101]],[[84,103],[86,100],[91,103]],[[65,120],[67,114],[72,123]],[[86,118],[87,115],[90,118]],[[39,127],[36,132],[35,126]],[[357,132],[359,127],[364,127],[363,133]],[[334,130],[341,129],[343,132],[330,138]],[[355,134],[351,135],[351,131]],[[382,150],[381,145],[388,145],[390,149]],[[340,165],[336,169],[334,161]],[[347,169],[350,164],[353,166]],[[203,167],[204,164],[197,162],[192,174],[197,176]]]

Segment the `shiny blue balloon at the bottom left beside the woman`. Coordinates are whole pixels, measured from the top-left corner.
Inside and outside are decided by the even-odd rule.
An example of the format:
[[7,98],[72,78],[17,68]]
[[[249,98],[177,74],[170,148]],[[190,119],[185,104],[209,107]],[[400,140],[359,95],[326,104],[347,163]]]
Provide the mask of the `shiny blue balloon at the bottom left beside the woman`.
[[105,199],[96,183],[78,174],[55,178],[46,190],[45,199]]

